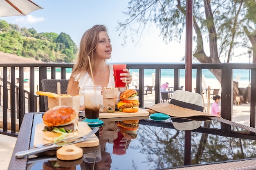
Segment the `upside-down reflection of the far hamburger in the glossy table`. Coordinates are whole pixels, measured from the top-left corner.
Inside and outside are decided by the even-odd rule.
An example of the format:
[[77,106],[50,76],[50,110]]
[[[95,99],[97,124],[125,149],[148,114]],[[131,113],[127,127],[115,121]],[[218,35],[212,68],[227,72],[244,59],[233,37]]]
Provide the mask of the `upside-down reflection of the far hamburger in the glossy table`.
[[123,120],[118,121],[117,125],[121,127],[120,132],[126,139],[135,139],[137,137],[137,129],[139,120]]

